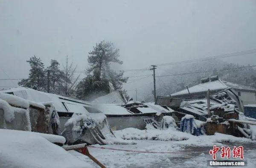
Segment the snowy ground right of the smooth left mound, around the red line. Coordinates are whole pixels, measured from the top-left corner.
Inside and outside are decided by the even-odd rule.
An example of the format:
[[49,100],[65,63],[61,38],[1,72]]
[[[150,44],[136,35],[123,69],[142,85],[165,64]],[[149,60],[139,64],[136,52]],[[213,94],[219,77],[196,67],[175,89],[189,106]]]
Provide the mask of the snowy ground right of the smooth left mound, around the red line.
[[[171,152],[171,154],[158,153],[137,153],[131,151],[116,151],[110,149],[89,147],[90,153],[107,167],[111,168],[149,168],[149,167],[207,167],[207,160],[212,160],[209,150],[213,145],[221,147],[234,145],[244,146],[244,158],[248,162],[248,167],[256,167],[256,141],[247,138],[233,137],[225,134],[215,134],[212,136],[193,136],[179,131],[168,130],[137,130],[127,128],[121,131],[114,131],[116,137],[163,137],[170,140],[170,137],[176,137],[177,140],[186,137],[187,140],[129,140],[134,141],[135,145],[92,145],[94,147],[114,148],[133,151],[150,151],[150,152]],[[175,136],[173,135],[175,134]],[[128,138],[129,139],[129,138]],[[135,139],[135,138],[134,138]],[[144,139],[144,138],[143,138]],[[97,167],[89,158],[75,152],[71,154],[85,162]],[[220,154],[220,152],[219,152]],[[217,155],[220,158],[220,155]]]

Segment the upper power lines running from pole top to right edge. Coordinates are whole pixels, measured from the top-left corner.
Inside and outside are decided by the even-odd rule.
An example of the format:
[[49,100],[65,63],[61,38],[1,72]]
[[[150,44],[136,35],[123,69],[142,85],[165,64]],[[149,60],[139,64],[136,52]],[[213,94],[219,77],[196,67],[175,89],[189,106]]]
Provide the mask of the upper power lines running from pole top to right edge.
[[177,61],[177,62],[172,62],[172,63],[162,63],[162,64],[156,64],[156,65],[157,66],[166,66],[166,65],[194,63],[194,62],[198,62],[198,61],[214,60],[214,59],[218,59],[218,58],[227,58],[227,57],[237,57],[237,56],[253,54],[253,53],[256,53],[256,49],[233,52],[233,53],[229,53],[229,54],[221,54],[221,55],[216,55],[216,56],[212,56],[212,57],[195,58],[195,59],[191,59],[191,60]]

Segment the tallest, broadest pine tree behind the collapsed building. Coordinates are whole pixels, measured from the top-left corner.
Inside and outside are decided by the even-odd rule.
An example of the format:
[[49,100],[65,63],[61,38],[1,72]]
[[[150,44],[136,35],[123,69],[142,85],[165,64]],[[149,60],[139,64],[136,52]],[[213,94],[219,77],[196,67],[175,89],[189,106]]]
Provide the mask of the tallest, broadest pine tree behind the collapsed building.
[[123,63],[118,57],[120,57],[119,49],[115,48],[113,43],[105,41],[96,43],[87,59],[88,75],[77,85],[77,97],[91,100],[108,94],[111,90],[121,90],[122,83],[126,83],[128,78],[122,77],[123,71],[116,72],[110,68],[111,63]]

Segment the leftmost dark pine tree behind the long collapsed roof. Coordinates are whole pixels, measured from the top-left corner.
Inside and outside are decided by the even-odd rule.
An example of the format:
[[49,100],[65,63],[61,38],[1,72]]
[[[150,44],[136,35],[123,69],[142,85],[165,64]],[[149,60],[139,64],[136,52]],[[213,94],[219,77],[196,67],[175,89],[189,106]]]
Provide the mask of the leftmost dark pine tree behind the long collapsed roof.
[[26,62],[30,65],[29,70],[29,77],[28,79],[21,80],[18,85],[32,88],[38,91],[46,91],[46,75],[44,71],[44,63],[42,63],[42,60],[40,58],[31,57]]

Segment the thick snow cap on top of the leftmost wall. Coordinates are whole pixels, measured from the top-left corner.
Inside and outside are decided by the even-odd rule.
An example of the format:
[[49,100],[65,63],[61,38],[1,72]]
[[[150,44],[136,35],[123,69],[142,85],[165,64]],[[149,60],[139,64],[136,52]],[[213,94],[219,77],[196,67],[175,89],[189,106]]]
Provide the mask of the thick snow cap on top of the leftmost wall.
[[29,102],[23,98],[14,96],[12,94],[0,93],[0,98],[5,100],[7,103],[11,105],[15,105],[21,108],[29,108]]

